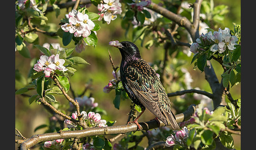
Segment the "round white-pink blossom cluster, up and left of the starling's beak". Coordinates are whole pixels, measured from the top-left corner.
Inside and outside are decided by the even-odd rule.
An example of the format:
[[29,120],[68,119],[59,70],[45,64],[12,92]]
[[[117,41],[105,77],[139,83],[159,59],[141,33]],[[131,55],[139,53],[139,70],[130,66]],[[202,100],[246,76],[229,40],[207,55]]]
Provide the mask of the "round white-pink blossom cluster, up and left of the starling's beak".
[[65,17],[68,19],[68,23],[62,25],[61,28],[65,32],[74,34],[75,37],[88,37],[95,27],[95,24],[87,14],[77,12],[75,9],[66,14]]

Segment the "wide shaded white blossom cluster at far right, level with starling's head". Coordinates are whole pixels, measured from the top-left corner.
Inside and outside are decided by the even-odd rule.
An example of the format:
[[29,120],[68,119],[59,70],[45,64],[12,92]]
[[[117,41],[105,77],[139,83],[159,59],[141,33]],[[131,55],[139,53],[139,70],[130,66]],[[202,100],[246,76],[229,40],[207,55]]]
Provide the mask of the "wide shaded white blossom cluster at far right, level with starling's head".
[[200,35],[200,37],[196,39],[196,42],[191,45],[190,51],[196,54],[200,50],[205,51],[206,47],[210,47],[211,51],[222,53],[227,48],[234,50],[234,46],[238,45],[237,41],[237,36],[232,36],[229,28],[225,28],[224,30],[219,28],[219,31],[214,31],[213,33],[209,31],[205,35]]

